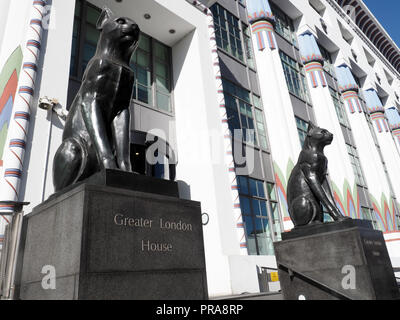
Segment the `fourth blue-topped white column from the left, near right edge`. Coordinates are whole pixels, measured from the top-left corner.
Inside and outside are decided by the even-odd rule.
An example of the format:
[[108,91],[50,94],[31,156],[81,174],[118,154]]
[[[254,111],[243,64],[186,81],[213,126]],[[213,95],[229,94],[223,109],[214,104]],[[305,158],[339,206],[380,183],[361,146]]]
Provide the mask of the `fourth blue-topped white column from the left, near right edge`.
[[[368,112],[373,122],[375,135],[381,148],[382,157],[387,168],[394,196],[398,200],[400,199],[400,156],[396,144],[393,140],[392,133],[389,129],[389,123],[386,119],[385,108],[383,107],[378,93],[374,88],[365,90],[364,97],[367,104]],[[384,176],[382,176],[381,179],[384,179]],[[391,196],[391,193],[389,195]],[[383,208],[381,212],[384,220],[386,220],[385,229],[387,231],[393,231],[393,229],[395,228],[395,221],[393,221],[395,220],[395,210],[393,208],[393,205],[390,205],[390,203],[393,202],[390,198],[386,200],[386,205],[382,203],[382,206],[386,206],[386,209]],[[390,216],[390,219],[388,215]]]

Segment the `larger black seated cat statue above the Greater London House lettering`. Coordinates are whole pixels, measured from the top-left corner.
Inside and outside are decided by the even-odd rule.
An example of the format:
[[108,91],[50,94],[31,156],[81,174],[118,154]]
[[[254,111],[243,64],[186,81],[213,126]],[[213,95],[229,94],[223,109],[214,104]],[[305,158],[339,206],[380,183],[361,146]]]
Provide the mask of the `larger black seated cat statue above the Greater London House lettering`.
[[66,120],[63,142],[53,166],[56,192],[104,169],[132,171],[130,101],[134,73],[129,66],[140,29],[129,18],[115,18],[105,8],[95,56]]

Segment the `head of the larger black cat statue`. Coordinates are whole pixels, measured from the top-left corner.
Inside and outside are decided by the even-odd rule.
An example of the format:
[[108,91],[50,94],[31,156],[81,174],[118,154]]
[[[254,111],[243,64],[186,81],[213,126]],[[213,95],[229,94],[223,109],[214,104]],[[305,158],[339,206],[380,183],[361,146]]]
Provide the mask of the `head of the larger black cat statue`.
[[130,18],[116,17],[107,7],[97,21],[98,30],[101,30],[101,41],[114,46],[114,49],[134,51],[139,42],[140,28]]

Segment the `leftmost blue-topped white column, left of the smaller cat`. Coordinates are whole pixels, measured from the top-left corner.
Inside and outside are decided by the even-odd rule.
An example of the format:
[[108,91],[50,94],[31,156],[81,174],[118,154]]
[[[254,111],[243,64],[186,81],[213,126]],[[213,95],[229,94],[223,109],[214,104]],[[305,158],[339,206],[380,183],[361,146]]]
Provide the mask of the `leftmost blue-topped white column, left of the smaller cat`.
[[[286,198],[289,175],[300,152],[292,101],[274,33],[268,0],[247,0],[260,92],[273,155],[275,181],[285,231],[293,228]],[[282,143],[285,141],[285,143]]]

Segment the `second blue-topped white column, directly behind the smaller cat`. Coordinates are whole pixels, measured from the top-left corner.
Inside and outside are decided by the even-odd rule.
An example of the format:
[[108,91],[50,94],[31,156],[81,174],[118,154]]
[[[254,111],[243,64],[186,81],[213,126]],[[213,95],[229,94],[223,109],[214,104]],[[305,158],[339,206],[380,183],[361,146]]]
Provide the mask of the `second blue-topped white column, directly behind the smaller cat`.
[[325,153],[329,159],[329,173],[335,201],[343,215],[356,218],[359,217],[360,210],[355,200],[358,198],[355,174],[323,69],[324,59],[314,33],[307,26],[303,29],[306,30],[299,35],[299,48],[316,124],[334,134],[333,143],[325,149]]

